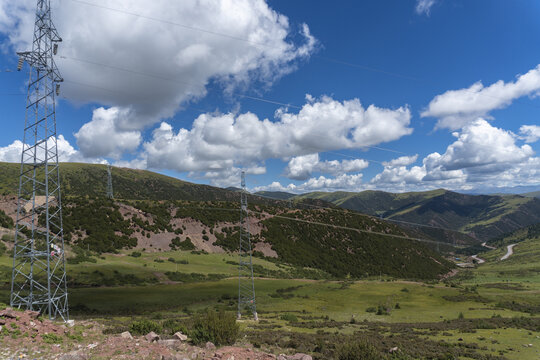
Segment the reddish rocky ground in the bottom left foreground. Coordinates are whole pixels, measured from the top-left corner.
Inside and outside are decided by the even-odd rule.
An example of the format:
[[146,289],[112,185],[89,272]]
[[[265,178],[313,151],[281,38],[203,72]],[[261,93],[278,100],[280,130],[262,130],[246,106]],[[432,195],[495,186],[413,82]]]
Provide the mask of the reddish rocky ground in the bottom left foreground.
[[6,308],[0,311],[0,359],[311,360],[305,354],[260,352],[249,344],[193,346],[181,333],[162,339],[154,333],[105,335],[103,330],[93,321],[60,324],[39,317],[35,311]]

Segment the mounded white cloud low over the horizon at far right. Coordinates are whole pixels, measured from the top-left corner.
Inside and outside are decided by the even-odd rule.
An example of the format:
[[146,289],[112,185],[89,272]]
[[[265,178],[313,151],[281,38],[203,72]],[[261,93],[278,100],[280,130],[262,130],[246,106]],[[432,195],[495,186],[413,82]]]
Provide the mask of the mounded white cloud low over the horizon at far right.
[[516,144],[518,137],[510,131],[477,119],[454,136],[443,154],[427,155],[422,166],[409,168],[402,158],[385,163],[371,184],[394,191],[439,187],[481,191],[486,186],[538,184],[540,158],[529,145]]

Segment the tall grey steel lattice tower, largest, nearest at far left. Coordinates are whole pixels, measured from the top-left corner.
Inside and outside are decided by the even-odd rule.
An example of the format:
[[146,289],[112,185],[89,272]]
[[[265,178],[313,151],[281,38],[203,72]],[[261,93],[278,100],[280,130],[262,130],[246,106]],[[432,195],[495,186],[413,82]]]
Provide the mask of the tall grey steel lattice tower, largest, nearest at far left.
[[21,156],[10,303],[67,321],[66,284],[55,97],[62,77],[53,56],[62,41],[50,0],[38,0],[32,50],[18,53],[30,66]]

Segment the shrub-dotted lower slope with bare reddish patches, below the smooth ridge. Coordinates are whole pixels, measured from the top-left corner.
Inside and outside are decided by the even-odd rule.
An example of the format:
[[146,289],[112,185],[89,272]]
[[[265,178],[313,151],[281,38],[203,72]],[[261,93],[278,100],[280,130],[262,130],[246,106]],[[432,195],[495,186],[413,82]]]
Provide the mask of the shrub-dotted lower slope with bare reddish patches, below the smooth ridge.
[[[238,249],[236,203],[71,198],[64,208],[65,237],[75,248],[97,253],[123,248],[231,253]],[[259,257],[277,257],[335,278],[386,274],[427,279],[452,268],[424,243],[403,238],[418,238],[417,233],[379,219],[340,209],[251,204],[250,210],[252,241]]]

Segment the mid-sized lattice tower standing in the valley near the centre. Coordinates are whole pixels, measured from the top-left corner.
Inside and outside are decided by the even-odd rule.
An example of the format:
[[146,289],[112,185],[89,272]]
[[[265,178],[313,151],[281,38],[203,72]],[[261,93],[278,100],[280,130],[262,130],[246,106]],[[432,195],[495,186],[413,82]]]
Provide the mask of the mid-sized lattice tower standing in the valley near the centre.
[[244,310],[253,313],[255,321],[255,283],[253,282],[253,263],[251,260],[251,235],[249,233],[249,213],[247,207],[246,173],[242,171],[242,192],[240,195],[240,248],[238,265],[238,318]]

